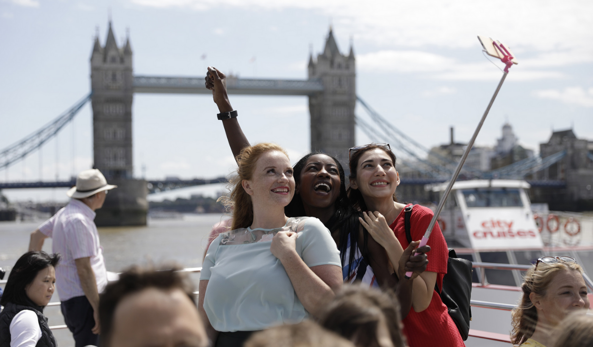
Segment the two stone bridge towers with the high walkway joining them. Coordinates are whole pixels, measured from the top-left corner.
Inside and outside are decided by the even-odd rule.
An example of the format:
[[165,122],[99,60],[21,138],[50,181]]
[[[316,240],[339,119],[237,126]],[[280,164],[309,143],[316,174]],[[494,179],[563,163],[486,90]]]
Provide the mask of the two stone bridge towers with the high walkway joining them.
[[[97,211],[97,225],[145,224],[146,182],[133,179],[132,102],[135,93],[210,94],[203,78],[133,74],[127,38],[118,47],[111,22],[104,46],[95,37],[91,54],[94,167],[119,189]],[[308,63],[308,79],[241,79],[228,76],[229,94],[302,95],[309,98],[311,150],[335,155],[355,144],[356,64],[352,47],[340,53],[329,31],[322,53]]]

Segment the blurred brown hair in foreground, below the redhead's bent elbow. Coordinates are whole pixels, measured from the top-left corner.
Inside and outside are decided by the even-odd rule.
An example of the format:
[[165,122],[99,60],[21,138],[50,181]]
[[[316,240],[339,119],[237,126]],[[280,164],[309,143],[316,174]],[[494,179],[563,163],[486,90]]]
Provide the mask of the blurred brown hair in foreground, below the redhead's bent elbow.
[[356,345],[378,345],[377,327],[384,320],[395,347],[406,345],[401,332],[400,304],[390,289],[385,291],[346,285],[321,316],[321,326]]

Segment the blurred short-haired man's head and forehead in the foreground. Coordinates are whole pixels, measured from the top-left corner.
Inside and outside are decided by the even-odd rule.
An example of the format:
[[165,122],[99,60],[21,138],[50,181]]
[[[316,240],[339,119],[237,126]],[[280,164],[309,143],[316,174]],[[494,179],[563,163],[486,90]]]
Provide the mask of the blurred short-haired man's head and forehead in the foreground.
[[193,286],[177,269],[133,267],[101,294],[103,347],[205,347]]

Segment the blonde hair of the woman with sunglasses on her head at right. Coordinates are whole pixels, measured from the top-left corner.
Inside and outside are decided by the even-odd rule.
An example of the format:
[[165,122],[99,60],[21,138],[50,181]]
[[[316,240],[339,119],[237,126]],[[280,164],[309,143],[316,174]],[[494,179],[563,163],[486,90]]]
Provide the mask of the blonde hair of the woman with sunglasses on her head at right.
[[583,273],[581,265],[564,261],[553,264],[540,262],[537,265],[537,270],[535,269],[535,265],[527,270],[527,274],[525,274],[523,284],[521,285],[521,290],[523,291],[521,301],[519,301],[517,308],[513,309],[511,313],[513,327],[511,332],[512,343],[521,345],[521,343],[531,338],[535,331],[535,326],[537,325],[537,309],[535,309],[529,295],[535,293],[538,297],[544,297],[556,275],[565,270],[578,271],[580,274]]

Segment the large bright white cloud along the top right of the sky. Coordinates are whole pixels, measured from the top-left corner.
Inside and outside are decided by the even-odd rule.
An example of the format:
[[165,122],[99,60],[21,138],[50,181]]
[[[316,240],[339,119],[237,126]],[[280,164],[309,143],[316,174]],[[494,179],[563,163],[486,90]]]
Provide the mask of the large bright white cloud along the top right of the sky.
[[[515,53],[563,51],[591,59],[593,2],[524,0],[512,6],[473,0],[374,2],[343,0],[132,0],[155,8],[216,7],[312,9],[333,19],[336,31],[380,46],[446,49],[479,46],[476,35],[496,38]],[[509,6],[511,6],[509,8]],[[583,49],[582,47],[587,47]],[[578,54],[576,54],[576,53]],[[570,60],[560,59],[565,64]],[[563,63],[564,62],[564,63]]]

